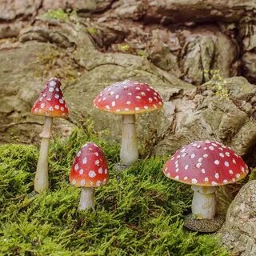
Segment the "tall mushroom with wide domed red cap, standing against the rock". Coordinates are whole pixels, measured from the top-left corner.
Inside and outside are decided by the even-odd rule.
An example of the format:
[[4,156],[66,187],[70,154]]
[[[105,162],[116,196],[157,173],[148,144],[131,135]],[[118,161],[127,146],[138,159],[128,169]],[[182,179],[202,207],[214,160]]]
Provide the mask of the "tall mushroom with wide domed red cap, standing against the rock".
[[122,114],[121,162],[130,166],[138,160],[135,114],[162,108],[162,98],[153,87],[144,82],[126,80],[116,82],[94,98],[98,110]]

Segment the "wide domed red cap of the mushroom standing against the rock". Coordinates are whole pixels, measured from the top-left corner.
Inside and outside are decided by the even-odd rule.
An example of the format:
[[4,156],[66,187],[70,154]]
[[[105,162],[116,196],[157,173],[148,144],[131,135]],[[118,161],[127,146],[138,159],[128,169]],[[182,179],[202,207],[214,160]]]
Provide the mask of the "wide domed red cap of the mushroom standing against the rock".
[[162,98],[143,82],[116,82],[94,98],[94,107],[116,114],[139,114],[162,108]]

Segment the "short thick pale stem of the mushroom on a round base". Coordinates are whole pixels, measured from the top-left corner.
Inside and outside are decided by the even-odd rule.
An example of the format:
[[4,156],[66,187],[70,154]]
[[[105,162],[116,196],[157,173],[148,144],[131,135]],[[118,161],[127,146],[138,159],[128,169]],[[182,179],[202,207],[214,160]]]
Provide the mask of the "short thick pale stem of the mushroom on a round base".
[[197,218],[214,218],[216,212],[216,187],[213,186],[191,186],[194,190],[192,200],[192,214]]

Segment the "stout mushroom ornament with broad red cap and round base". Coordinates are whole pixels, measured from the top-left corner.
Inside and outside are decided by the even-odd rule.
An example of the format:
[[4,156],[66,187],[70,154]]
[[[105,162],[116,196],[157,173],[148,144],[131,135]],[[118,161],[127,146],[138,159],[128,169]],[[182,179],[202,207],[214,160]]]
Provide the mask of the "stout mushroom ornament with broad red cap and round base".
[[[220,227],[218,221],[222,222],[222,218],[215,217],[218,186],[238,182],[249,170],[230,147],[214,141],[199,141],[178,150],[166,162],[163,172],[170,179],[192,185],[194,190],[192,215],[184,225],[192,230],[214,232]],[[208,228],[205,224],[209,224]]]

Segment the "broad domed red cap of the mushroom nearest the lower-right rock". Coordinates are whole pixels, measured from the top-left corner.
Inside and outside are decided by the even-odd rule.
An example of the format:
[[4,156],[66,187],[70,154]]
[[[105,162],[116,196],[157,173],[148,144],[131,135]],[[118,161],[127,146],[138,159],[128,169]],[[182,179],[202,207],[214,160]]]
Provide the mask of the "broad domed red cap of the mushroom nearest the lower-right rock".
[[192,142],[178,150],[163,167],[171,179],[197,186],[222,186],[248,174],[248,166],[230,147],[219,142]]

